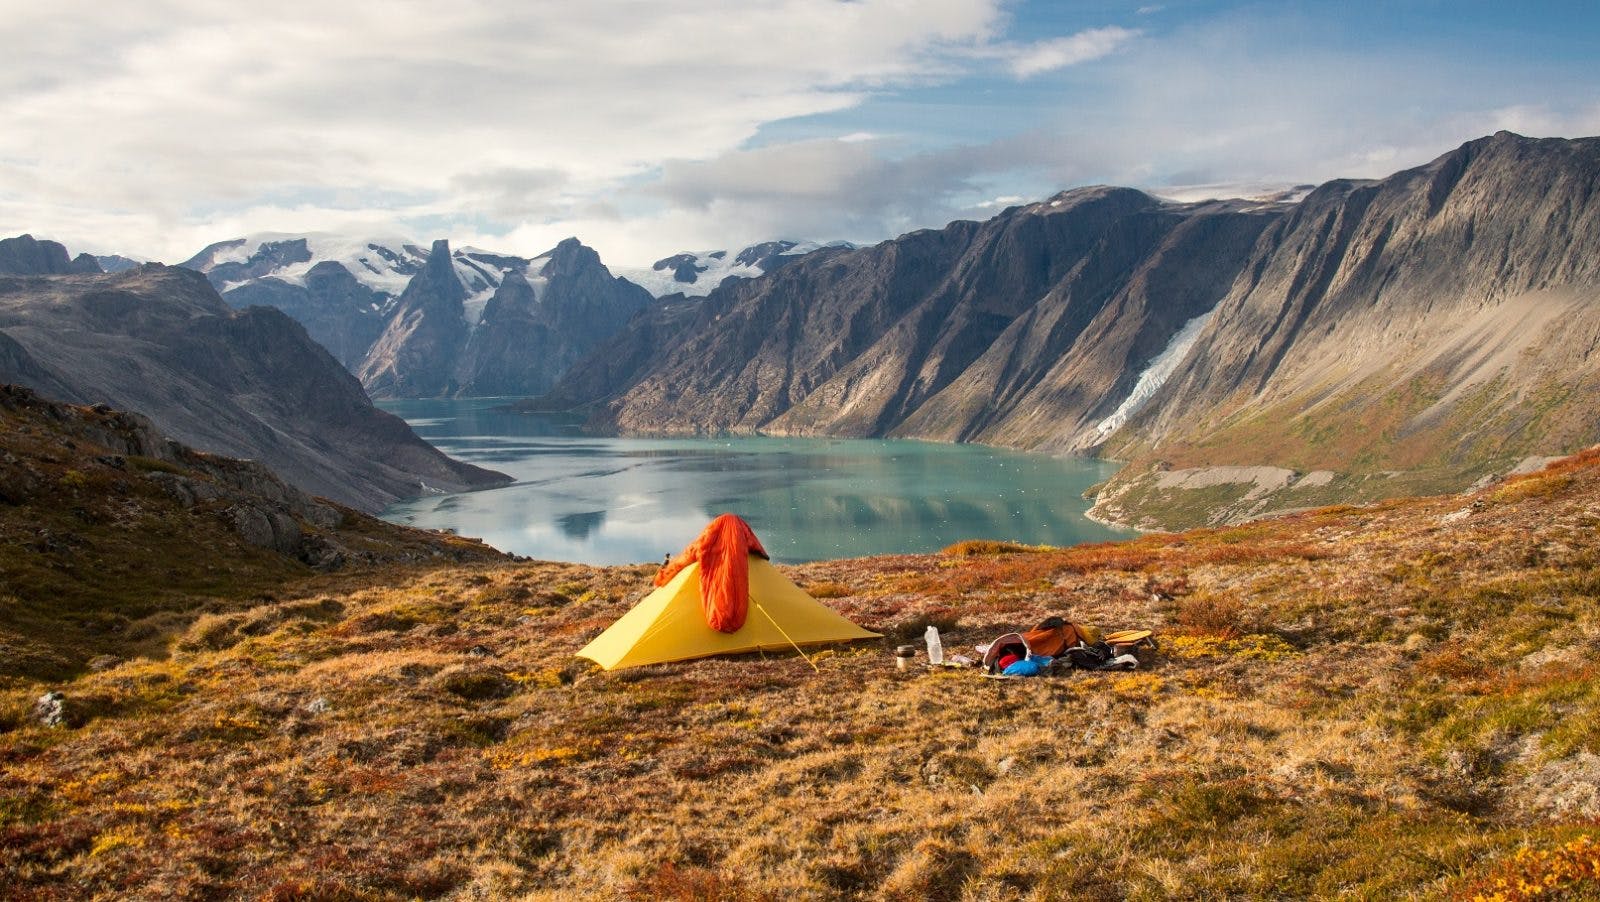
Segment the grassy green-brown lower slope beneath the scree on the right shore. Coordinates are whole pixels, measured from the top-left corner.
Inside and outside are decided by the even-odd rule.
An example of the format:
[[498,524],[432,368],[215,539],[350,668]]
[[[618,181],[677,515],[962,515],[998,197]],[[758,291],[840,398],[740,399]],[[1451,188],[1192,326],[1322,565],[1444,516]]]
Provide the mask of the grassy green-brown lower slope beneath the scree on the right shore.
[[[1461,491],[1526,457],[1592,445],[1595,424],[1587,411],[1597,397],[1594,381],[1578,377],[1571,385],[1552,381],[1526,392],[1493,379],[1459,395],[1438,377],[1398,387],[1373,377],[1331,397],[1219,413],[1189,438],[1112,448],[1114,457],[1130,464],[1101,486],[1096,515],[1142,529],[1190,529],[1328,504]],[[1238,465],[1318,478],[1291,485],[1200,478],[1197,489],[1163,477]]]

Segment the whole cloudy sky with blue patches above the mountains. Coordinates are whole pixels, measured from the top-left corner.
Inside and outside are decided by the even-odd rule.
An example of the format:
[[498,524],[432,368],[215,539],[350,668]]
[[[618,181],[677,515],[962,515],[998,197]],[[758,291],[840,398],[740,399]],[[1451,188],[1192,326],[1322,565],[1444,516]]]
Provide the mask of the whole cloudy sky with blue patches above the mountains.
[[613,265],[1600,134],[1600,3],[0,0],[0,235]]

